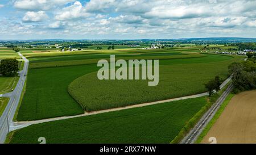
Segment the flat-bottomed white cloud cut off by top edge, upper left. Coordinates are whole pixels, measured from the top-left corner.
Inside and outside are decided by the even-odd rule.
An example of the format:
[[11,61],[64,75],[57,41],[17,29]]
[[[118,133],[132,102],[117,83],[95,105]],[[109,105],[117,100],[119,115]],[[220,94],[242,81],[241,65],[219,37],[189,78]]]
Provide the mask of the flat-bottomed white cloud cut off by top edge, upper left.
[[16,0],[14,7],[24,10],[49,10],[73,1],[75,0]]

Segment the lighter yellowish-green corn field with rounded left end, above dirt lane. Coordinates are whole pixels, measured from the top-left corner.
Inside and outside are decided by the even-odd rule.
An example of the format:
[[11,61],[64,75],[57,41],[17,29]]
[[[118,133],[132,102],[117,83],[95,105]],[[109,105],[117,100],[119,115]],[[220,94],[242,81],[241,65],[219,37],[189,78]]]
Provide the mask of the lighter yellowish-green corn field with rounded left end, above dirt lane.
[[84,110],[103,110],[203,93],[207,91],[204,83],[214,76],[228,77],[227,66],[224,62],[163,65],[159,85],[154,87],[148,87],[144,80],[101,81],[94,72],[73,81],[68,90]]

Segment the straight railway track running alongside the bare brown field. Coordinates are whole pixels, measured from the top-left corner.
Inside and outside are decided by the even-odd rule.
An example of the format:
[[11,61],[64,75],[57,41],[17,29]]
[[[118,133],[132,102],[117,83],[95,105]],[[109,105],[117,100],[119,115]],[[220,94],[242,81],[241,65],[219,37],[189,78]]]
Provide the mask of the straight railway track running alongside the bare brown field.
[[210,120],[216,114],[216,112],[218,111],[218,108],[220,108],[221,104],[224,102],[226,97],[228,97],[228,94],[231,92],[232,87],[233,87],[232,85],[229,85],[229,87],[224,91],[221,97],[218,98],[216,103],[214,103],[213,106],[204,114],[204,116],[195,125],[195,127],[191,129],[188,135],[184,137],[183,140],[181,140],[181,143],[192,144],[197,140],[197,137],[201,134],[205,126],[210,122]]

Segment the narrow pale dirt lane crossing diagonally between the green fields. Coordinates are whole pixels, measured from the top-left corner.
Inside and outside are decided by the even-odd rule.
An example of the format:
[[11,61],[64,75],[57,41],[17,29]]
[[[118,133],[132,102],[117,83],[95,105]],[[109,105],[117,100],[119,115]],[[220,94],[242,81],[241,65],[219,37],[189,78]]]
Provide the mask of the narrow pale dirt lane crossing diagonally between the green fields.
[[[221,89],[232,79],[232,77],[229,77],[228,79],[226,79],[222,85],[220,86]],[[201,94],[196,94],[196,95],[189,95],[187,97],[180,97],[180,98],[172,98],[172,99],[166,99],[166,100],[159,100],[156,102],[149,102],[149,103],[142,103],[142,104],[135,104],[135,105],[131,105],[131,106],[126,106],[126,107],[119,107],[119,108],[112,108],[112,109],[108,109],[108,110],[100,110],[100,111],[93,111],[93,112],[85,112],[85,114],[82,115],[76,115],[76,116],[63,116],[63,117],[59,117],[59,118],[51,118],[51,119],[42,119],[42,120],[34,120],[34,121],[26,121],[26,122],[13,122],[10,125],[10,131],[14,131],[16,129],[20,129],[20,128],[24,128],[24,127],[28,127],[29,125],[32,124],[39,124],[39,123],[45,123],[45,122],[52,122],[55,120],[64,120],[64,119],[71,119],[71,118],[79,118],[82,116],[89,116],[89,115],[97,115],[97,114],[102,114],[105,112],[111,112],[111,111],[119,111],[119,110],[125,110],[125,109],[129,109],[129,108],[135,108],[135,107],[144,107],[144,106],[150,106],[153,104],[160,104],[160,103],[166,103],[166,102],[172,102],[175,100],[183,100],[183,99],[190,99],[190,98],[198,98],[198,97],[204,97],[209,95],[208,93],[201,93]]]

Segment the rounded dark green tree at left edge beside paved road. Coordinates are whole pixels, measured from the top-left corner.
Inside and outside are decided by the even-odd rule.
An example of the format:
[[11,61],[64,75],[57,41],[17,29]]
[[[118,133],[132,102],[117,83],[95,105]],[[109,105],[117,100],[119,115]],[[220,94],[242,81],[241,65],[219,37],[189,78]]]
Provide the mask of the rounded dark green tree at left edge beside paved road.
[[3,59],[0,62],[0,73],[6,77],[14,77],[19,70],[19,62],[14,58]]

